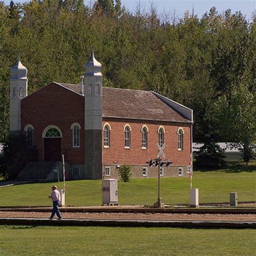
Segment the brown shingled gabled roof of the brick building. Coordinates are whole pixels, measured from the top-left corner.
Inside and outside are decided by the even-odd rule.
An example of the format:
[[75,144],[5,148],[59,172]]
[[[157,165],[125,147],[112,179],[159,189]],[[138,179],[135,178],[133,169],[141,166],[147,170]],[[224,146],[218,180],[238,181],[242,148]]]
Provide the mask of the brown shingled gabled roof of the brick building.
[[[58,84],[80,92],[79,84]],[[103,117],[191,123],[151,91],[110,87],[103,87]]]

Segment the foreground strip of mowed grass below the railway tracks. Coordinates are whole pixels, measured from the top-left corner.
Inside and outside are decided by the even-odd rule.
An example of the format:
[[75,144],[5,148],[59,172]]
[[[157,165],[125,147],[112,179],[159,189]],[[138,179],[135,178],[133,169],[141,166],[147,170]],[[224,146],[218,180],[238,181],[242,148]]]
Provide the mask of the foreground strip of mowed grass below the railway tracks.
[[255,255],[255,230],[0,226],[0,255]]

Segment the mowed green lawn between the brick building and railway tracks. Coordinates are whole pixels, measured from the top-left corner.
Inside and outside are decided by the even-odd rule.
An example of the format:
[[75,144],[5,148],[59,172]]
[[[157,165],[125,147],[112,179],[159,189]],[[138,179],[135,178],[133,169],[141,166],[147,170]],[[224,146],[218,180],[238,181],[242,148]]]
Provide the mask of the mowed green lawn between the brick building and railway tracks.
[[[150,170],[149,170],[150,171]],[[48,194],[56,183],[23,184],[0,188],[0,206],[51,205]],[[218,171],[194,171],[193,187],[199,188],[200,203],[229,201],[230,192],[238,192],[239,201],[256,200],[256,162],[246,167],[232,164]],[[62,183],[57,184],[62,187]],[[66,181],[66,205],[102,204],[102,181]],[[157,200],[157,179],[132,179],[118,182],[120,205],[152,205]],[[165,204],[189,203],[190,178],[162,178],[161,199]]]

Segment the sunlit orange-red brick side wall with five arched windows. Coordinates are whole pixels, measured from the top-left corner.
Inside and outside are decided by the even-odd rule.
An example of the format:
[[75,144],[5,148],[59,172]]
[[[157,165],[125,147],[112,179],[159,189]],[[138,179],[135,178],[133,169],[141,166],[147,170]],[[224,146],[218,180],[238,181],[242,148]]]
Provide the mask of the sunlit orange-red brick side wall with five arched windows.
[[[103,119],[103,126],[109,123],[111,126],[110,148],[103,149],[103,164],[130,164],[146,165],[145,162],[150,158],[156,158],[158,149],[158,128],[163,126],[165,129],[165,158],[173,161],[172,165],[189,165],[191,152],[191,124],[184,123],[164,123],[164,122],[139,122],[134,120]],[[124,126],[131,126],[131,148],[124,148]],[[142,126],[146,125],[149,129],[147,133],[147,150],[142,149]],[[184,129],[184,150],[178,151],[177,130],[179,127]],[[104,133],[103,133],[104,139]],[[103,141],[104,145],[104,141]]]

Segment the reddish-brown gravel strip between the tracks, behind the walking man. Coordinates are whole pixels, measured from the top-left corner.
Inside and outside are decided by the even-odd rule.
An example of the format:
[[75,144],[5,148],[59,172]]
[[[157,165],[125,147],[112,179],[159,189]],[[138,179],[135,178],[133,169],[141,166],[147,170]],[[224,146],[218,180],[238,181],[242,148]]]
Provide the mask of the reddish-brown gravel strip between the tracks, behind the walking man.
[[[1,212],[0,218],[49,218],[47,212]],[[256,221],[256,214],[178,214],[178,213],[62,213],[64,219],[134,220],[241,220]]]

